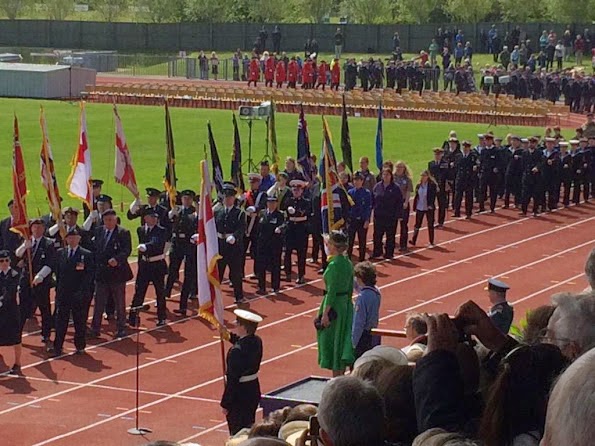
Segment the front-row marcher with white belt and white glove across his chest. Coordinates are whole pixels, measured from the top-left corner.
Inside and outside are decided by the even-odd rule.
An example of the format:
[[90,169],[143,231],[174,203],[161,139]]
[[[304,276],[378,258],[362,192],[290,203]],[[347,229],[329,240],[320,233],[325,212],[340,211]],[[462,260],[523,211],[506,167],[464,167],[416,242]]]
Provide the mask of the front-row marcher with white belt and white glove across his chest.
[[147,209],[144,212],[144,225],[137,229],[138,234],[138,272],[134,286],[134,297],[132,298],[131,310],[128,315],[128,323],[136,327],[137,311],[142,307],[149,283],[153,283],[155,296],[157,298],[157,326],[165,325],[166,304],[165,304],[165,275],[167,265],[165,263],[165,229],[159,226],[159,214],[154,210]]

